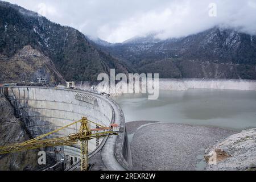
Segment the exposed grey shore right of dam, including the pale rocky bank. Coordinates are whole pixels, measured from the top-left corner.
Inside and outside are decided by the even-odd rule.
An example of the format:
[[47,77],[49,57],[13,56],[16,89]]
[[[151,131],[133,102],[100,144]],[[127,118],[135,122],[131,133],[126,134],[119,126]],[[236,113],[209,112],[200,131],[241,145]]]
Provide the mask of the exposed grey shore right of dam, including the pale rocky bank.
[[[256,129],[238,131],[157,121],[126,123],[134,170],[256,170]],[[216,164],[207,164],[216,152]]]

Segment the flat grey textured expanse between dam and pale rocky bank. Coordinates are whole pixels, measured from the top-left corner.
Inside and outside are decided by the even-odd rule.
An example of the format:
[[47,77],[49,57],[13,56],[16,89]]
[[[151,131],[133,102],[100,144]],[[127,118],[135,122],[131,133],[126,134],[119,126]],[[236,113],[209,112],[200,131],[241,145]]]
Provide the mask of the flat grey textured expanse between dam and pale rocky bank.
[[134,134],[130,143],[133,169],[139,171],[205,170],[205,149],[237,133],[216,127],[155,121],[129,122],[126,125],[127,133]]

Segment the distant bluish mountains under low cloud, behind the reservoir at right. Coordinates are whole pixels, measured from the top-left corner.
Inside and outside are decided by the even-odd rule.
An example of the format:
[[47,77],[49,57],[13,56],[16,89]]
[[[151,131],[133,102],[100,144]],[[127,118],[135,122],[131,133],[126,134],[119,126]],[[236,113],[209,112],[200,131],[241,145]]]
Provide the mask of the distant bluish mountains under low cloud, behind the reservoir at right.
[[214,27],[179,39],[150,35],[122,44],[97,43],[138,72],[162,78],[256,79],[256,36],[235,30]]

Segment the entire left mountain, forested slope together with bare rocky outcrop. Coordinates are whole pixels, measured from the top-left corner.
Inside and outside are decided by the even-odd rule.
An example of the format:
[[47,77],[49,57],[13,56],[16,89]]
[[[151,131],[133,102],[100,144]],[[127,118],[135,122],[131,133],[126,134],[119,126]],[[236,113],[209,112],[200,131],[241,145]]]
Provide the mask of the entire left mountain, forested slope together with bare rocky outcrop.
[[[3,63],[0,72],[8,73],[0,75],[1,82],[34,81],[36,76],[60,81],[59,73],[65,80],[95,81],[99,73],[109,73],[111,68],[128,72],[125,63],[94,47],[75,28],[50,22],[37,13],[3,1],[0,1],[0,35],[0,63]],[[27,56],[31,59],[28,60],[17,56],[20,51],[40,52],[42,56]],[[49,67],[42,63],[53,64]]]

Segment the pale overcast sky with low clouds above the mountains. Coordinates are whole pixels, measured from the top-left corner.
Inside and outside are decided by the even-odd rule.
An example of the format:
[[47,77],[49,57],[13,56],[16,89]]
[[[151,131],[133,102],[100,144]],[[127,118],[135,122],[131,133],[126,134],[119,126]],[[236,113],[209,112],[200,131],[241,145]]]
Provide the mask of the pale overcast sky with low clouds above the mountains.
[[152,32],[160,39],[217,25],[256,35],[256,0],[6,0],[111,43]]

